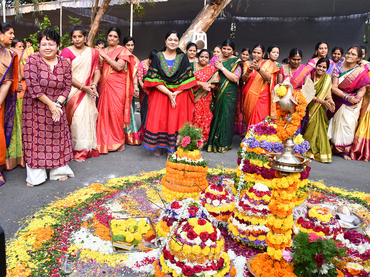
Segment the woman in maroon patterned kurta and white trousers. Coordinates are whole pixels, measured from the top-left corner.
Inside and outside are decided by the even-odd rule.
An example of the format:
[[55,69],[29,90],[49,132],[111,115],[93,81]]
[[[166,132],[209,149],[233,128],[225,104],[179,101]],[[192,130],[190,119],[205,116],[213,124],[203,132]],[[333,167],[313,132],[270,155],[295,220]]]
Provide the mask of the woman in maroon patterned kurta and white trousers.
[[51,168],[51,180],[74,177],[68,167],[73,151],[64,107],[71,90],[71,65],[56,56],[60,36],[55,30],[41,30],[37,41],[40,54],[28,57],[24,66],[27,90],[23,98],[22,135],[28,187],[46,180],[46,168]]

